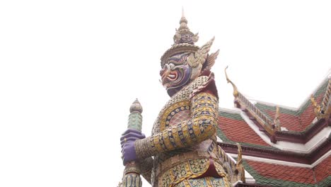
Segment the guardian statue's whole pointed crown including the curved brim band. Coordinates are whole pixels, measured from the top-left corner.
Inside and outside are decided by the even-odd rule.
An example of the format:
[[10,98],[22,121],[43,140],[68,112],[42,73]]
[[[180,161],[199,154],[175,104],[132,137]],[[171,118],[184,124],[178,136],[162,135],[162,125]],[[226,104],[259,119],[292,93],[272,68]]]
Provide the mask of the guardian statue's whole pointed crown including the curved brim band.
[[187,27],[187,19],[184,16],[182,10],[182,18],[180,18],[180,27],[176,29],[176,33],[173,36],[173,46],[170,47],[161,57],[161,67],[165,64],[169,57],[181,53],[181,52],[196,52],[199,47],[194,45],[199,39],[198,33],[194,34]]

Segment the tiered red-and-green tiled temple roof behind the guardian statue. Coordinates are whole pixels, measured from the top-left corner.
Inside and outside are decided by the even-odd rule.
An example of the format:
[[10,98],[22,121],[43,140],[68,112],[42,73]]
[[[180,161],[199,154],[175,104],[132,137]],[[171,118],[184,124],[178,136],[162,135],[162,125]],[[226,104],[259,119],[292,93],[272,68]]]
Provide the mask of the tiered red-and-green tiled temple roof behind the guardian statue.
[[331,186],[331,77],[299,108],[252,101],[233,85],[235,107],[219,109],[219,145],[252,178],[237,186]]

